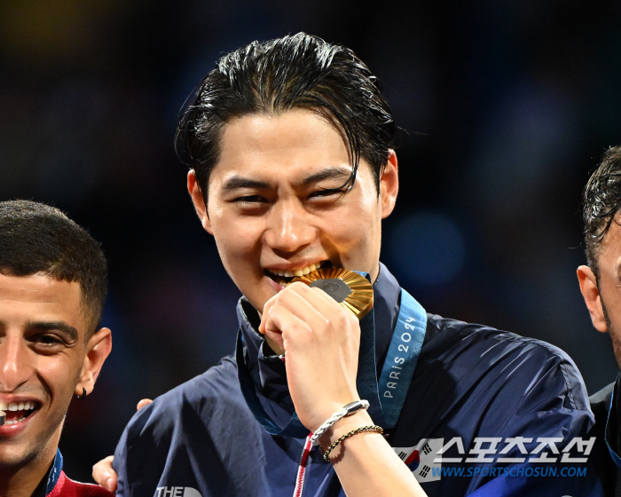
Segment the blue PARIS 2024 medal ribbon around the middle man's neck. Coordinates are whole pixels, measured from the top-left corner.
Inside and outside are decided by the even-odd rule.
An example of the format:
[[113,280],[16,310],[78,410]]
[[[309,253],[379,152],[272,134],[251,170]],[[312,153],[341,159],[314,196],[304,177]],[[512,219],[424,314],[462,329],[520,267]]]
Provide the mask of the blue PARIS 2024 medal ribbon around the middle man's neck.
[[[366,274],[365,274],[366,276]],[[375,333],[373,309],[360,320],[360,350],[358,351],[358,375],[356,386],[360,398],[369,401],[368,413],[375,424],[384,429],[394,428],[412,383],[427,329],[427,312],[421,304],[401,288],[401,305],[397,323],[390,340],[388,355],[381,369],[378,386],[375,365]],[[270,435],[306,438],[309,430],[294,412],[287,426],[280,428],[265,412],[256,395],[255,386],[248,370],[241,330],[237,336],[235,359],[241,392],[255,419]]]

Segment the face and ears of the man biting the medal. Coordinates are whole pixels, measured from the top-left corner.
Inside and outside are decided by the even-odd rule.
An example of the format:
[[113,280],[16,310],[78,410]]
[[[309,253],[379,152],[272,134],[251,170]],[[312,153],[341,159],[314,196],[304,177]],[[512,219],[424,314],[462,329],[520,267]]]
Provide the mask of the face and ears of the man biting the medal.
[[208,209],[193,178],[194,205],[226,271],[259,311],[294,275],[320,265],[379,271],[381,218],[397,197],[390,154],[378,197],[360,161],[349,193],[348,148],[334,126],[311,111],[241,117],[224,128],[221,157],[208,184]]

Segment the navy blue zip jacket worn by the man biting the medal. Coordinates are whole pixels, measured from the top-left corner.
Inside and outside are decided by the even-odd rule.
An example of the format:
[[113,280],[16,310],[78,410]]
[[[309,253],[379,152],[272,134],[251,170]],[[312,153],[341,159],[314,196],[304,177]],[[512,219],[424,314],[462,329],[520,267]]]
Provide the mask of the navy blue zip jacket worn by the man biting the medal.
[[[397,319],[400,288],[383,265],[373,288],[375,354],[381,370]],[[257,396],[271,418],[283,426],[294,411],[285,366],[263,347],[263,337],[255,331],[257,312],[243,298],[238,318]],[[134,415],[114,454],[118,496],[293,495],[304,440],[271,436],[263,430],[242,396],[237,367],[233,357],[225,357]],[[537,452],[538,438],[543,437],[557,438],[553,445],[562,451],[572,438],[586,438],[592,425],[578,369],[563,351],[491,327],[428,314],[413,382],[388,441],[429,496],[577,497],[600,494],[590,472],[575,477],[537,476],[545,474],[544,469],[560,473],[565,466],[560,464],[562,453],[554,454],[550,446],[531,453]],[[434,466],[432,475],[429,447],[436,453],[455,437],[467,454],[460,454],[459,444],[453,444],[436,457],[462,461],[443,462],[444,473]],[[515,437],[532,439],[523,445],[531,454],[525,457],[547,453],[543,455],[559,461],[497,461],[523,456],[518,446],[498,454],[507,447],[507,438]],[[500,442],[497,454],[491,455],[493,462],[465,461],[477,457],[472,452],[473,447],[476,452],[475,438]],[[586,464],[568,466],[574,472],[586,468]],[[332,465],[323,461],[318,448],[311,451],[302,495],[344,495]]]

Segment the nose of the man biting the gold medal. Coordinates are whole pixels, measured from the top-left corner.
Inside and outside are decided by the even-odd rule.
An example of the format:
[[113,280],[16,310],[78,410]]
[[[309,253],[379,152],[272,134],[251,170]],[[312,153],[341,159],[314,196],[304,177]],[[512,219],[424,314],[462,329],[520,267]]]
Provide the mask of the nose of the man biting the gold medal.
[[295,252],[315,238],[309,214],[296,200],[277,202],[271,209],[265,241],[275,251]]

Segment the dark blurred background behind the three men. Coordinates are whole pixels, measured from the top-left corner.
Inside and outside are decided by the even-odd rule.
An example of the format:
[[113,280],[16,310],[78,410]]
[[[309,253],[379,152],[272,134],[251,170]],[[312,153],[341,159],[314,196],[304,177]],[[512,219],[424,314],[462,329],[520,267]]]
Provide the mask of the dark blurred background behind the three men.
[[110,264],[114,351],[70,408],[67,474],[90,481],[140,398],[232,352],[240,294],[185,191],[177,113],[225,52],[298,31],[356,51],[404,129],[382,249],[400,283],[611,383],[575,270],[581,189],[621,143],[620,23],[612,0],[0,3],[0,200],[53,203]]

